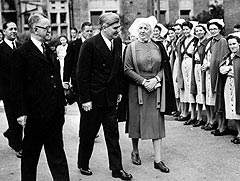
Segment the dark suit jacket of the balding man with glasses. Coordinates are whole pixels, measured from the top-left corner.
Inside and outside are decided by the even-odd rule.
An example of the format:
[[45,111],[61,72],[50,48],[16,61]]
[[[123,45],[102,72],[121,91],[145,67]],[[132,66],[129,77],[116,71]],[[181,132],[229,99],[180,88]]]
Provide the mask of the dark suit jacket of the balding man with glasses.
[[60,63],[46,44],[46,56],[29,40],[13,52],[11,93],[17,117],[48,120],[64,115]]

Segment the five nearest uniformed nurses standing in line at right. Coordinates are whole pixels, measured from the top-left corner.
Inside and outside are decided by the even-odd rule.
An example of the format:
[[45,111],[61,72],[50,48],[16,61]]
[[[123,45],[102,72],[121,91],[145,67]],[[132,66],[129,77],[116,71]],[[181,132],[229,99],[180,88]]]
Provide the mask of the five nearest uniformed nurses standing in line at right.
[[[169,56],[179,105],[174,112],[176,120],[223,136],[231,134],[227,120],[234,119],[238,135],[231,141],[240,144],[240,102],[236,94],[240,76],[239,37],[221,35],[224,24],[220,20],[210,20],[207,29],[198,24],[194,35],[190,33],[191,22],[176,24],[174,28],[177,36]],[[203,119],[204,107],[207,120]]]

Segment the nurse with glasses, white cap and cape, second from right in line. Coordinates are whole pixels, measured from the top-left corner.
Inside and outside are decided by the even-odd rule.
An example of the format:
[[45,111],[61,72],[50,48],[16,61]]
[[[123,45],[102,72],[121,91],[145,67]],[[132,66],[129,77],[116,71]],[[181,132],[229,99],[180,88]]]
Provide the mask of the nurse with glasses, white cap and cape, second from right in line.
[[[205,130],[214,130],[211,133],[215,136],[221,136],[227,133],[226,120],[224,110],[218,112],[218,127],[216,119],[216,92],[217,80],[219,76],[219,64],[223,57],[228,52],[227,41],[220,34],[223,29],[223,24],[217,20],[210,20],[207,24],[208,30],[211,34],[211,41],[209,41],[205,48],[205,58],[202,64],[202,71],[206,74],[206,110],[207,110],[207,125],[203,128]],[[214,107],[216,109],[214,109]],[[217,129],[216,129],[217,128]],[[216,129],[216,130],[215,130]]]

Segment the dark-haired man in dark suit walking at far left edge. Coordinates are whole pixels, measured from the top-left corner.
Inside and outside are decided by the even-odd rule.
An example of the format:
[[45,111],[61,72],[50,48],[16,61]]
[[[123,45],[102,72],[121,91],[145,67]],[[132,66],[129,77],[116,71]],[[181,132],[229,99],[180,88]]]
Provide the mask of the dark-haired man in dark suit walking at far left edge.
[[[17,25],[14,22],[3,24],[4,41],[0,44],[0,99],[3,100],[8,121],[8,129],[3,135],[8,138],[9,146],[16,151],[17,157],[22,154],[22,127],[17,123],[13,103],[10,99],[11,55],[18,46]],[[14,60],[13,60],[14,61]]]

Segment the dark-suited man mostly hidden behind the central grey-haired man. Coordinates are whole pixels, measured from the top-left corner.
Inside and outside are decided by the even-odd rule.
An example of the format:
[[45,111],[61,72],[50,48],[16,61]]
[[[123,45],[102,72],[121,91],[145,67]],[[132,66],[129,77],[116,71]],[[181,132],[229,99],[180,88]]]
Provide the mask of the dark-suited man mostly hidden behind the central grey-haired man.
[[[75,41],[72,41],[68,44],[67,55],[64,59],[64,70],[63,70],[63,86],[65,89],[70,88],[70,84],[72,84],[72,89],[78,96],[77,82],[76,82],[76,67],[77,60],[80,52],[80,48],[82,43],[91,38],[93,35],[93,27],[90,22],[84,22],[81,26],[81,37]],[[76,99],[78,103],[78,107],[80,108],[80,104],[78,99]]]

